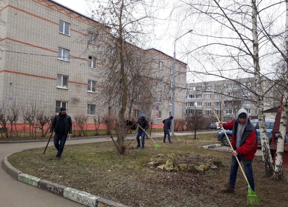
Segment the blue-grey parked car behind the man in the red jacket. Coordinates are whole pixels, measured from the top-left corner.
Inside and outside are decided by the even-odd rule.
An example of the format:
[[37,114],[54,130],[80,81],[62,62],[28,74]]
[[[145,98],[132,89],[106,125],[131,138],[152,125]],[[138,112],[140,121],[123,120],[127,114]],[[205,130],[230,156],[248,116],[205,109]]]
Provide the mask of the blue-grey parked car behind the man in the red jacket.
[[[267,130],[267,135],[268,135],[268,141],[269,141],[269,144],[271,144],[271,142],[272,142],[272,129],[273,129],[275,120],[274,120],[274,119],[266,119],[265,122],[266,122],[266,130]],[[251,123],[255,126],[256,131],[257,131],[257,135],[258,135],[258,146],[261,146],[260,130],[259,130],[259,122],[258,122],[258,119],[253,119],[253,120],[251,120]],[[227,136],[228,136],[228,138],[229,138],[229,141],[231,141],[231,138],[232,138],[232,130],[225,130],[225,131],[226,131],[226,134],[227,134]],[[275,136],[277,137],[278,134],[275,134]],[[220,142],[222,142],[223,145],[225,145],[225,146],[230,146],[222,129],[218,132],[217,140],[220,141]],[[286,134],[285,143],[288,143],[288,134]]]

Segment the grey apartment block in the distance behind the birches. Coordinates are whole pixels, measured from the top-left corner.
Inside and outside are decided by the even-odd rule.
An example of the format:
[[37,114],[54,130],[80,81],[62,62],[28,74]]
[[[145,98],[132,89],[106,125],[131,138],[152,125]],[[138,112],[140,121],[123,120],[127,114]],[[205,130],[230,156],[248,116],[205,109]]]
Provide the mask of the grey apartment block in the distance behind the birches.
[[[267,87],[269,81],[263,82]],[[258,119],[256,97],[250,91],[255,90],[253,78],[189,83],[186,88],[186,116],[202,113],[211,122],[233,119],[238,110],[247,110],[250,119]],[[265,110],[277,105],[277,101],[265,99]]]

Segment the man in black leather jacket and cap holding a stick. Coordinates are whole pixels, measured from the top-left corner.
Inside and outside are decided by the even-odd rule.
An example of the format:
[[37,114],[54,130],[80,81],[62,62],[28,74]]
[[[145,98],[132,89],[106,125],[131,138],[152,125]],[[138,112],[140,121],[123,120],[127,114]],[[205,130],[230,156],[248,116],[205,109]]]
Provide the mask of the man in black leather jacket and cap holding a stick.
[[53,130],[55,131],[54,145],[58,151],[56,158],[61,159],[68,132],[70,136],[72,135],[72,120],[71,117],[66,114],[65,107],[61,107],[60,113],[54,116],[50,127],[50,137],[52,136]]

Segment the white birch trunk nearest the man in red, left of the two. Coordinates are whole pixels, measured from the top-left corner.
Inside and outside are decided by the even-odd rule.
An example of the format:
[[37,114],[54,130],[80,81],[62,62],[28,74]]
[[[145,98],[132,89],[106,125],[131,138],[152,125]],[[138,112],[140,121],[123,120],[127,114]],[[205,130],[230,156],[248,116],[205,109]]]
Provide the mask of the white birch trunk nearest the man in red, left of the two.
[[258,11],[256,8],[256,0],[252,0],[252,36],[253,36],[253,64],[255,73],[255,83],[256,83],[256,94],[258,94],[257,99],[257,110],[258,110],[258,120],[259,120],[259,130],[261,137],[261,146],[263,152],[263,164],[264,173],[267,177],[271,177],[274,171],[274,165],[272,161],[272,156],[270,153],[270,146],[268,142],[268,136],[266,131],[265,116],[264,116],[264,105],[263,105],[263,90],[261,84],[261,74],[259,66],[259,43],[258,43],[258,33],[257,33],[257,16]]

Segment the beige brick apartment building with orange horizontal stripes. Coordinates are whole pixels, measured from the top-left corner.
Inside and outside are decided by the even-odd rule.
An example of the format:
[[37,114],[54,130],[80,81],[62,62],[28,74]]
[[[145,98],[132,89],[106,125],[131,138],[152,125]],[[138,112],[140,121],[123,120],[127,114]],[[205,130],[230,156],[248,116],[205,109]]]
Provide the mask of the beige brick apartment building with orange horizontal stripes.
[[[103,25],[52,0],[7,0],[0,4],[2,105],[16,103],[26,108],[37,105],[51,113],[64,106],[72,118],[85,114],[91,123],[95,117],[111,111],[119,113],[121,104],[112,105],[119,103],[113,91],[110,97],[105,97],[112,100],[111,105],[96,98],[106,87],[101,85],[102,72],[108,67],[100,54],[112,37],[109,32],[96,35],[91,28]],[[150,85],[139,90],[130,112],[134,117],[140,116],[141,100],[150,99],[150,110],[146,113],[154,123],[162,124],[162,119],[172,111],[173,57],[153,48],[137,50],[133,61],[141,66],[141,73]],[[176,117],[182,116],[185,107],[186,66],[176,61]]]

